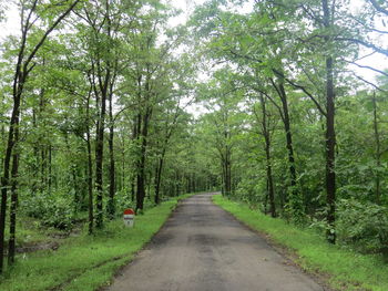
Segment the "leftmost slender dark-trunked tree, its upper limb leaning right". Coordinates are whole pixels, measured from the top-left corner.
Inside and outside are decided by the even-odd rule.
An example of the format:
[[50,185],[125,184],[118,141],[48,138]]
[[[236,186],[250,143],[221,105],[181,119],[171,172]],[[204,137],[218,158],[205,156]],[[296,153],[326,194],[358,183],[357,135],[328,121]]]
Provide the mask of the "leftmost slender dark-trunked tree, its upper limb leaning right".
[[[58,11],[53,9],[57,7],[54,3],[51,7],[53,13],[55,13],[45,28],[45,31],[41,38],[38,39],[35,43],[28,44],[28,39],[33,29],[33,24],[38,19],[44,21],[44,14],[39,14],[39,1],[33,0],[29,1],[29,3],[22,2],[20,3],[21,9],[21,37],[20,43],[18,44],[18,56],[17,64],[14,70],[14,79],[13,79],[13,108],[12,114],[9,122],[9,133],[8,133],[8,144],[4,154],[4,166],[3,166],[3,175],[1,178],[1,211],[0,211],[0,273],[3,270],[3,252],[4,252],[4,227],[6,227],[6,210],[7,210],[7,196],[8,188],[11,186],[12,199],[11,199],[11,239],[9,243],[9,262],[13,262],[14,258],[14,233],[16,233],[16,201],[17,201],[17,177],[18,177],[18,153],[13,154],[13,149],[19,142],[19,123],[20,123],[20,104],[22,100],[22,94],[24,90],[25,82],[28,81],[28,76],[34,67],[34,56],[38,51],[43,45],[44,41],[49,37],[49,34],[61,23],[61,21],[74,9],[74,7],[80,2],[80,0],[75,1],[61,1],[60,6],[63,7],[63,11]],[[50,7],[49,7],[50,9]],[[11,177],[13,181],[10,179],[10,162],[12,158],[12,170]]]

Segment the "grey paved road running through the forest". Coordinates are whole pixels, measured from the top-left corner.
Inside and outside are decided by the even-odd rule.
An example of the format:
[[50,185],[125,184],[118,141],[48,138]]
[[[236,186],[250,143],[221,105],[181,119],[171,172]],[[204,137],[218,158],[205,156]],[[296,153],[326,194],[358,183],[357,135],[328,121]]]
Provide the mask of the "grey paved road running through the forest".
[[110,291],[323,291],[255,232],[212,204],[184,200]]

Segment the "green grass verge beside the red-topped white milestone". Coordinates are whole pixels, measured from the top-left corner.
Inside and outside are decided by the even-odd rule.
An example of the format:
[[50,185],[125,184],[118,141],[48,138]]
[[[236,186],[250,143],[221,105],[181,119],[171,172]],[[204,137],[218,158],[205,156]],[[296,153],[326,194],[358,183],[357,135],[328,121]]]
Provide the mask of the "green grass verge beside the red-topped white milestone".
[[20,254],[11,270],[0,277],[0,290],[93,291],[110,283],[114,272],[127,263],[165,222],[181,196],[135,217],[133,228],[121,219],[106,222],[100,232],[69,238],[57,250]]

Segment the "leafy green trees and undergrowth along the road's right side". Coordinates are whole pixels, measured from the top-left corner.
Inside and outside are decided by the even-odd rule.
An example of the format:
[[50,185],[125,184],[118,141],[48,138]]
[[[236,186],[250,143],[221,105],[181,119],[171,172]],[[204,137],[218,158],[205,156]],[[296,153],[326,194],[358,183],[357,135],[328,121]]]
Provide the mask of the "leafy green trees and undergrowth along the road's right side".
[[197,147],[222,194],[387,260],[387,1],[236,7],[207,1],[188,22],[211,72]]

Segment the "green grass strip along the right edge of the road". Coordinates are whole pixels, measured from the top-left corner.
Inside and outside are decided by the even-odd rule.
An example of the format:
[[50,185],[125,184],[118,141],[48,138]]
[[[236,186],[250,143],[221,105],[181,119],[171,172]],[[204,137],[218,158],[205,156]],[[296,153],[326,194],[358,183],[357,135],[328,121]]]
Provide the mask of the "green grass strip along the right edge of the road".
[[388,290],[388,264],[378,256],[361,254],[329,245],[310,229],[300,229],[282,219],[274,219],[247,205],[213,196],[216,205],[253,229],[296,253],[296,262],[310,273],[328,278],[338,290]]

